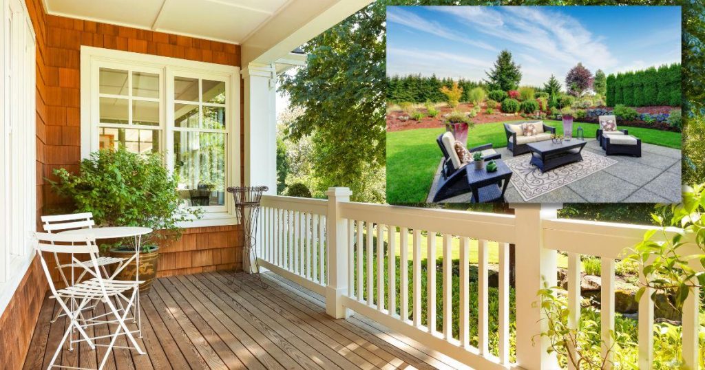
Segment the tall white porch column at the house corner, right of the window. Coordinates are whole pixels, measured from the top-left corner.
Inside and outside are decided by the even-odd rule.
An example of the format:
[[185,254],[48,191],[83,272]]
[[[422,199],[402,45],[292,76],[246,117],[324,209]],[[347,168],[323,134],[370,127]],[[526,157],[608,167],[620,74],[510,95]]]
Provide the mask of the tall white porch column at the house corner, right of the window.
[[[266,185],[266,194],[276,195],[276,72],[272,66],[250,64],[241,74],[245,82],[244,183]],[[259,226],[262,227],[261,222]],[[261,238],[257,238],[260,242]],[[243,270],[255,272],[254,261],[250,256],[243,257]]]

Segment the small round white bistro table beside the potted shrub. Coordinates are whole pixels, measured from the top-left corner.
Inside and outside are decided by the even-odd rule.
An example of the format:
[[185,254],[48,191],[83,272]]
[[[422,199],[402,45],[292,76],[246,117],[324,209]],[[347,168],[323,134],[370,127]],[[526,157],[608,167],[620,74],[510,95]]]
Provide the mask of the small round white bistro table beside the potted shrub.
[[[113,273],[112,276],[106,276],[109,278],[115,278],[120,271],[122,271],[133,259],[136,259],[135,266],[135,280],[140,280],[140,249],[142,247],[142,235],[152,233],[151,228],[142,228],[136,226],[111,226],[106,228],[80,228],[76,230],[66,230],[61,231],[59,234],[71,234],[71,235],[93,235],[96,240],[101,239],[120,239],[120,238],[135,238],[135,254],[123,261],[121,266]],[[142,338],[142,319],[140,315],[140,289],[137,289],[137,304],[135,305],[136,314],[133,315],[135,321],[137,322],[137,330],[140,333],[140,338]]]

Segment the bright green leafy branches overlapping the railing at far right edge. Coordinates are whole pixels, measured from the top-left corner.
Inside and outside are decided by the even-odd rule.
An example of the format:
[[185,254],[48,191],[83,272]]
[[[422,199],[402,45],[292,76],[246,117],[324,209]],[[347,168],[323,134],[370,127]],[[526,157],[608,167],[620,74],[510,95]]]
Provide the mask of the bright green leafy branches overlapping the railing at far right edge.
[[[705,272],[692,268],[696,263],[705,269],[705,184],[683,188],[683,200],[680,204],[658,205],[651,217],[658,229],[644,233],[644,239],[629,249],[625,260],[636,264],[644,276],[649,276],[642,283],[636,295],[638,301],[646,288],[652,288],[654,300],[656,294],[662,293],[673,297],[675,307],[682,307],[691,288],[705,285]],[[663,214],[668,214],[666,218]],[[675,227],[670,228],[668,227]],[[698,251],[684,255],[682,247],[696,245]]]

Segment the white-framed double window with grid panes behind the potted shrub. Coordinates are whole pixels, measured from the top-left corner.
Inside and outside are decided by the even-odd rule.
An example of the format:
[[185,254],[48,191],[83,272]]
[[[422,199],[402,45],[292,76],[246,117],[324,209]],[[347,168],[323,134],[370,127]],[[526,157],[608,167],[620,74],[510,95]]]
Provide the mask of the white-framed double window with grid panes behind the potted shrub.
[[[120,146],[164,154],[182,206],[234,223],[226,187],[240,183],[239,68],[92,47],[81,49],[82,156]],[[236,124],[234,124],[236,123]]]

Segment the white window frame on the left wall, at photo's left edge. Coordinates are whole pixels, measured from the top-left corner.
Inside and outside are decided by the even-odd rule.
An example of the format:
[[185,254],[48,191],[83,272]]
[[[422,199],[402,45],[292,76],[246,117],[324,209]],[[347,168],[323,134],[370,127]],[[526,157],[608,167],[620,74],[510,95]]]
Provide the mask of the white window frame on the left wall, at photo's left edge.
[[36,37],[25,1],[0,0],[0,314],[35,257]]

